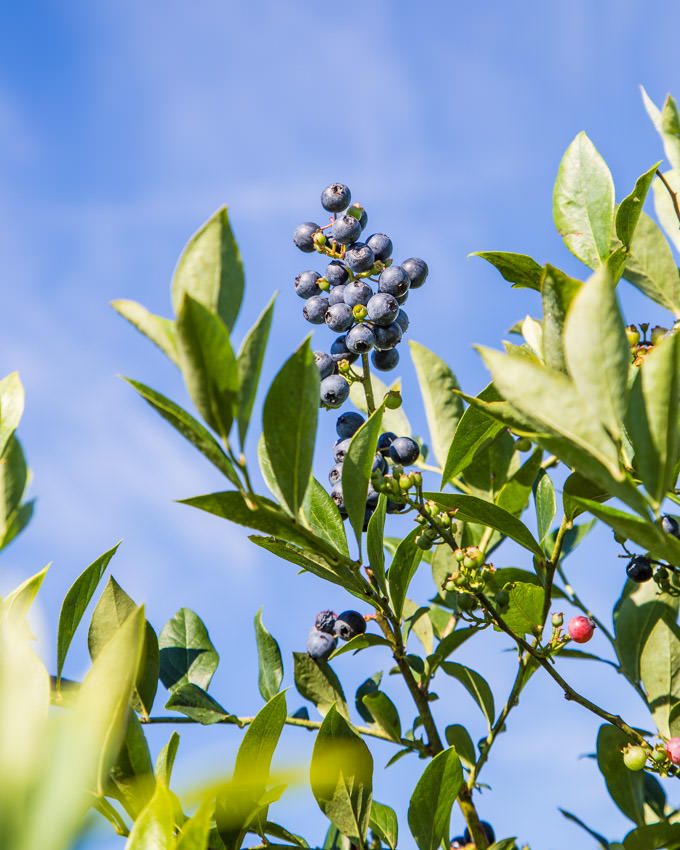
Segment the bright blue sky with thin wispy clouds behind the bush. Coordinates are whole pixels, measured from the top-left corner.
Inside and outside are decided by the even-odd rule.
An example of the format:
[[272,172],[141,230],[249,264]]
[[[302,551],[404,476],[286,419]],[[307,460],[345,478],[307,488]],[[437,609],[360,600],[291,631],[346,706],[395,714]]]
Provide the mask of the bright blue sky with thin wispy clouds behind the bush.
[[[244,530],[174,504],[222,483],[116,377],[138,378],[186,403],[174,368],[108,303],[134,298],[169,315],[169,281],[184,242],[229,204],[248,286],[237,342],[280,291],[267,384],[309,329],[292,291],[308,258],[290,234],[320,214],[321,189],[340,180],[365,204],[369,229],[392,236],[396,256],[428,261],[430,279],[407,305],[409,333],[450,363],[464,389],[477,391],[486,376],[472,344],[498,346],[510,325],[538,307],[532,293],[511,292],[467,255],[514,250],[583,274],[552,223],[559,160],[585,129],[621,198],[662,155],[639,85],[657,103],[668,90],[680,94],[677,51],[667,37],[679,24],[672,0],[417,7],[385,0],[325,8],[72,0],[4,10],[0,371],[18,369],[26,387],[20,435],[38,506],[30,529],[3,553],[0,590],[53,562],[36,612],[51,666],[64,593],[121,538],[112,563],[117,580],[146,602],[157,631],[182,606],[200,614],[222,655],[214,693],[241,714],[260,704],[255,611],[263,606],[288,659],[303,647],[318,610],[349,602],[340,589],[296,578]],[[622,298],[630,321],[669,321],[630,287]],[[315,333],[317,347],[328,341],[323,329]],[[425,433],[413,370],[407,357],[402,363],[407,412]],[[333,421],[327,416],[319,432],[320,478]],[[254,429],[251,455],[255,436]],[[571,564],[603,616],[622,586],[609,544],[596,532]],[[504,563],[514,556],[509,550]],[[432,592],[424,571],[415,591],[421,598]],[[461,659],[488,677],[501,703],[511,656],[501,638],[491,638]],[[76,644],[67,671],[73,676],[86,665],[84,633]],[[348,695],[379,667],[388,669],[389,659],[369,653],[336,664]],[[645,723],[614,673],[568,673],[596,700]],[[400,698],[394,682],[388,690]],[[469,723],[479,737],[468,697],[450,683],[439,693],[442,726]],[[162,700],[159,693],[156,713]],[[291,708],[300,702],[290,692]],[[593,763],[579,759],[592,751],[597,726],[535,677],[483,776],[493,790],[481,798],[482,816],[499,834],[547,850],[588,846],[557,805],[621,837],[625,820]],[[181,731],[179,781],[229,770],[234,730]],[[169,727],[151,730],[154,752],[168,734]],[[289,730],[283,759],[309,751],[311,741]],[[403,813],[416,765],[405,759],[385,773],[386,750],[375,753],[376,797]],[[322,818],[308,792],[291,792],[278,811],[281,822],[304,824],[310,840],[321,840]],[[401,826],[406,848],[403,816]],[[121,845],[105,828],[87,844]]]

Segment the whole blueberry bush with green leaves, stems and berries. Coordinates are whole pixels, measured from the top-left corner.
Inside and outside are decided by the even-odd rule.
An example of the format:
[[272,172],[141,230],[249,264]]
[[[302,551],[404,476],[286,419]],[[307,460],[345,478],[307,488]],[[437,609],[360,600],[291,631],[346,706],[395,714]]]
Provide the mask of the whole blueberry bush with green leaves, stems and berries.
[[[537,675],[602,721],[597,764],[631,828],[609,840],[576,814],[565,817],[609,850],[680,848],[680,809],[667,800],[680,776],[680,527],[672,513],[680,504],[680,272],[673,253],[680,250],[680,113],[670,96],[661,109],[644,99],[670,169],[653,164],[616,203],[610,171],[584,133],[559,167],[555,224],[590,269],[584,280],[524,254],[478,254],[513,287],[533,290],[540,316],[512,329],[518,343],[479,348],[488,386],[464,392],[440,357],[410,341],[427,444],[406,415],[416,400],[376,372],[395,369],[405,337],[426,332],[409,327],[403,305],[418,297],[411,290],[437,282],[419,257],[394,261],[386,234],[364,235],[367,212],[344,184],[323,190],[321,223],[294,230],[315,268],[300,271],[284,297],[304,300],[301,330],[304,320],[326,328],[313,334],[315,345],[317,334],[323,340],[318,348],[310,335],[284,358],[263,393],[256,450],[247,437],[274,302],[236,351],[244,277],[226,209],[179,259],[173,319],[114,302],[178,367],[197,415],[137,380],[130,386],[225,478],[220,492],[184,504],[250,529],[253,544],[291,565],[291,586],[302,571],[320,587],[341,587],[355,607],[311,613],[306,651],[292,659],[298,696],[320,719],[306,707],[291,713],[279,645],[258,612],[264,705],[240,717],[209,693],[218,654],[200,617],[181,608],[157,634],[113,578],[90,619],[90,672],[82,682],[62,678],[115,548],[64,599],[53,676],[30,649],[25,622],[45,571],[28,579],[0,607],[0,761],[13,779],[0,783],[3,847],[71,846],[94,808],[129,850],[517,850],[527,846],[522,824],[519,839],[495,835],[480,819],[479,790],[499,734],[511,733],[513,708]],[[648,196],[659,224],[643,212]],[[617,300],[621,280],[667,309],[670,327],[628,322]],[[21,385],[10,375],[0,383],[3,547],[32,510],[23,501],[26,463],[15,436],[22,406]],[[330,471],[317,478],[319,416],[335,418],[337,442],[327,447]],[[253,486],[254,464],[269,495]],[[567,556],[595,522],[611,529],[626,559],[611,622],[589,609],[566,574]],[[521,567],[507,565],[506,541],[515,544],[511,563],[523,553]],[[429,598],[409,596],[417,571],[432,575]],[[565,609],[573,615],[566,624]],[[609,644],[608,658],[575,648],[595,629]],[[514,652],[508,693],[455,660],[485,631]],[[403,681],[408,703],[395,704],[380,670],[347,700],[333,660],[376,647],[391,654],[390,672]],[[648,706],[648,729],[578,692],[563,659],[613,665]],[[485,731],[477,744],[456,722],[455,706],[437,702],[438,677],[456,680],[479,706]],[[152,713],[159,682],[167,690],[161,716]],[[63,710],[50,713],[50,703]],[[145,726],[172,717],[243,730],[233,772],[192,799],[172,790],[177,732],[155,764],[145,737]],[[272,757],[286,726],[315,734],[308,778],[328,819],[325,837],[279,823],[287,780],[272,769]],[[374,739],[394,748],[386,769],[402,757],[417,768],[407,811],[373,799]],[[493,792],[485,813],[492,801]],[[450,834],[454,807],[466,823],[460,835]]]

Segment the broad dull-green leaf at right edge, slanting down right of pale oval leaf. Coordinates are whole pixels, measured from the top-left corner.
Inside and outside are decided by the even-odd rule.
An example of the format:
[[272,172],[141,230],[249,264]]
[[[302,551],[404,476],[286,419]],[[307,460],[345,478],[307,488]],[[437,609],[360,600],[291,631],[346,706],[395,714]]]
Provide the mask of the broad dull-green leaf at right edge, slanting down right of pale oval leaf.
[[645,213],[631,241],[623,276],[652,301],[680,316],[680,275],[665,236]]

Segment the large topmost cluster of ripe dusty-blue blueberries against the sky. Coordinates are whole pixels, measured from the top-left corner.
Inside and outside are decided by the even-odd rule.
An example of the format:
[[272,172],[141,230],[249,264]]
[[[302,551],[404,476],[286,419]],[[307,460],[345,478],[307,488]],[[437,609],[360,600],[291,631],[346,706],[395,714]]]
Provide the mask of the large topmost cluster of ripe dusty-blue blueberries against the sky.
[[396,346],[408,328],[400,305],[428,274],[427,263],[417,257],[394,264],[392,240],[384,233],[359,241],[368,219],[363,207],[350,204],[349,188],[334,183],[321,193],[321,205],[332,214],[330,224],[306,221],[293,232],[301,251],[330,258],[323,275],[310,269],[295,278],[295,291],[305,299],[305,319],[340,334],[330,353],[314,352],[326,407],[340,407],[347,399],[351,364],[360,355],[372,352],[373,366],[381,371],[395,368]]

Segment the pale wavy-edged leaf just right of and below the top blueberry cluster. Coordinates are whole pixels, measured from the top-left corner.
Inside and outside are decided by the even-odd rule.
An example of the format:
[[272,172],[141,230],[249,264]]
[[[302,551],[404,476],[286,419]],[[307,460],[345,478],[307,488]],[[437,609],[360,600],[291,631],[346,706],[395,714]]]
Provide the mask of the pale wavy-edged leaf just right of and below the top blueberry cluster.
[[460,387],[455,375],[440,357],[413,340],[409,346],[423,396],[432,451],[439,465],[444,466],[451,440],[463,415],[463,402],[454,392]]

